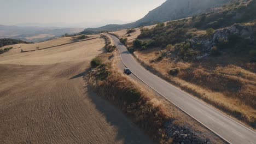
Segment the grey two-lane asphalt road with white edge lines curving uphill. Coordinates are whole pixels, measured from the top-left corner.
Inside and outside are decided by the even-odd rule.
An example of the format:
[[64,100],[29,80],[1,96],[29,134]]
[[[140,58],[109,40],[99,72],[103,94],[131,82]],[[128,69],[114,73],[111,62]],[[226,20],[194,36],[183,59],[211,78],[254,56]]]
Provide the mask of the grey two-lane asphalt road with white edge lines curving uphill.
[[198,122],[205,125],[205,127],[212,130],[227,142],[234,144],[256,143],[255,131],[235,122],[233,119],[223,115],[211,106],[207,106],[191,95],[150,73],[135,61],[117,37],[113,35],[109,36],[118,47],[120,57],[125,66],[131,69],[132,73],[138,77],[138,79],[146,83],[146,85],[154,89],[154,91],[161,94],[171,101],[171,103],[179,107],[179,109],[195,118]]

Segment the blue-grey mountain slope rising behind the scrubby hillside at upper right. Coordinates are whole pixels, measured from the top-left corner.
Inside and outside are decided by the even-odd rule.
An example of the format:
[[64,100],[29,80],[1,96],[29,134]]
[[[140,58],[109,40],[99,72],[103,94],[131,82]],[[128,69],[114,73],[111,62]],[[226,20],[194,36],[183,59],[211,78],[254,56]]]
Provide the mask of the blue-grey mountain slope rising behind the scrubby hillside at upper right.
[[153,25],[157,22],[182,19],[211,11],[231,0],[167,0],[158,8],[149,11],[142,19],[125,25],[107,25],[99,28],[86,28],[85,31],[115,31],[118,29]]

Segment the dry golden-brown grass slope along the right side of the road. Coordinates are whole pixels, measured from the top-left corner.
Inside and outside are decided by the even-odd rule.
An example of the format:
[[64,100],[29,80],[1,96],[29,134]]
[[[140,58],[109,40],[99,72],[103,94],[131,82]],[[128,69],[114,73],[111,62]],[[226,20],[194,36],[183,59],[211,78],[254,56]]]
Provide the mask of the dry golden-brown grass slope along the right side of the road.
[[[247,23],[246,25],[252,25]],[[152,28],[149,27],[149,29]],[[112,32],[119,38],[127,38],[127,46],[132,46],[141,33],[139,28],[127,37],[125,30]],[[206,31],[191,29],[194,35],[200,37]],[[147,39],[143,39],[146,40]],[[133,54],[141,64],[152,73],[164,78],[173,85],[182,88],[194,96],[217,107],[228,115],[255,128],[256,123],[256,65],[249,63],[248,57],[239,53],[208,57],[203,61],[172,61],[170,58],[158,59],[162,53],[173,49],[161,47],[149,50],[135,51]],[[177,75],[170,75],[169,70],[179,68]]]

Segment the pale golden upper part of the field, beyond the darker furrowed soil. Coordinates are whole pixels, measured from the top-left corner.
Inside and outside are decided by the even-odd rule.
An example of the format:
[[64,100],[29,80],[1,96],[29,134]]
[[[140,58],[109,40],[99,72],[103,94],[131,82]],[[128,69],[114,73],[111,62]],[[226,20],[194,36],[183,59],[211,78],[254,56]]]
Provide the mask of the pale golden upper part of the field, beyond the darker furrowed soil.
[[[97,35],[95,37],[100,37]],[[24,50],[34,50],[39,46],[43,49],[43,47],[54,46],[59,44],[65,44],[71,41],[72,38],[59,38],[56,40],[45,41],[43,43],[37,44],[24,44],[22,49]],[[85,45],[86,44],[86,45]],[[3,53],[0,57],[0,64],[26,64],[26,65],[43,65],[43,64],[53,64],[59,62],[68,62],[68,61],[83,61],[84,59],[92,59],[95,54],[100,51],[95,51],[94,49],[88,49],[88,51],[84,51],[86,47],[101,47],[104,45],[103,39],[93,39],[90,41],[81,41],[73,44],[63,45],[53,47],[51,49],[33,51],[33,52],[25,52],[21,53],[20,49],[11,49],[7,53]],[[13,45],[15,46],[15,45]],[[88,53],[91,53],[91,56],[88,56]],[[75,56],[75,57],[74,57]]]

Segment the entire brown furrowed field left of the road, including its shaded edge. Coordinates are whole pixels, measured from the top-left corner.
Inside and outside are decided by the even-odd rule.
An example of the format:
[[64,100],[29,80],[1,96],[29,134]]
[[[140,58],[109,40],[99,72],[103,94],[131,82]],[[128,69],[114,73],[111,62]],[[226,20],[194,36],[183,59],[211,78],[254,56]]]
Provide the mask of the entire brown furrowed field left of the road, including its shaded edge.
[[0,143],[150,143],[83,79],[91,59],[103,52],[103,39],[25,53],[19,47],[0,55]]

